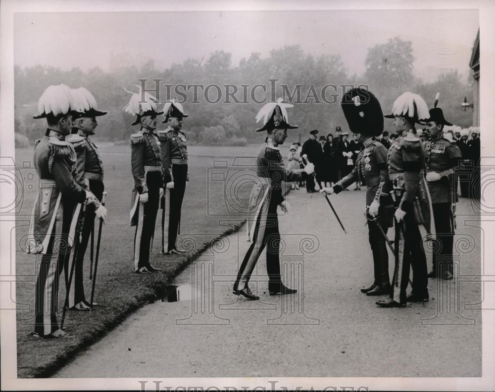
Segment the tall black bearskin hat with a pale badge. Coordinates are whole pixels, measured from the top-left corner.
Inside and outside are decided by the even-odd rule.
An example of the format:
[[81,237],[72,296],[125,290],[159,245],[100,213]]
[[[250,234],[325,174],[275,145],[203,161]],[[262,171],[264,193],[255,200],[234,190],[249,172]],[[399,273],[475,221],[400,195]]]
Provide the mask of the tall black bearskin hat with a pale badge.
[[380,102],[364,88],[352,88],[342,98],[342,110],[350,131],[378,136],[383,131],[383,112]]

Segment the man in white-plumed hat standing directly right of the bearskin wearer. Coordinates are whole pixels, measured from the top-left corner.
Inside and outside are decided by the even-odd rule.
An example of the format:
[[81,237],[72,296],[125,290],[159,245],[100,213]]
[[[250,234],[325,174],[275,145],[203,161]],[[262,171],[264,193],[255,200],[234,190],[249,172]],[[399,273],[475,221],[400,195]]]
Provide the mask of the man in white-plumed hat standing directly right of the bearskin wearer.
[[[429,117],[428,106],[418,94],[409,91],[394,102],[392,114],[398,137],[389,148],[387,164],[392,180],[395,218],[395,270],[390,297],[376,304],[403,307],[409,302],[426,302],[428,270],[426,247],[432,228],[431,199],[424,179],[423,143],[415,133],[415,124]],[[412,266],[412,293],[406,297]]]

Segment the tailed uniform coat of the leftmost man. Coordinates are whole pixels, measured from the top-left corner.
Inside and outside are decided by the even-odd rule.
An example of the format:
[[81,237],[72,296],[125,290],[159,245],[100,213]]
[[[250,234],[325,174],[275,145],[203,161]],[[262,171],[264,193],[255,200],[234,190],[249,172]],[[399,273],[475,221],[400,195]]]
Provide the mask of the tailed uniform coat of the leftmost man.
[[[61,137],[44,136],[35,147],[33,161],[40,186],[31,216],[27,253],[47,253],[64,199],[78,203],[86,200],[86,192],[74,180],[76,153]],[[57,224],[61,227],[61,222]]]

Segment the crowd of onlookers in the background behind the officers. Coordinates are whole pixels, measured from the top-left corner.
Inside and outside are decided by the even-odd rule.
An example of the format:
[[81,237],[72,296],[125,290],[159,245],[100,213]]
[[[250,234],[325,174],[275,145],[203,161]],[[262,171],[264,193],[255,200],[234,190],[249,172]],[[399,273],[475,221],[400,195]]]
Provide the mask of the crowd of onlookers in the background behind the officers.
[[[336,128],[335,136],[328,133],[326,136],[318,137],[316,130],[309,133],[309,139],[302,145],[295,142],[290,146],[288,169],[300,169],[303,165],[302,157],[307,155],[308,161],[315,165],[316,179],[319,185],[321,187],[333,186],[352,170],[357,155],[364,146],[357,140],[358,135],[353,135],[349,140],[349,132],[342,131],[341,127]],[[428,133],[424,130],[417,130],[417,134],[423,143],[429,138]],[[461,196],[479,197],[481,152],[479,128],[445,127],[444,137],[454,142],[462,153],[458,170]],[[396,138],[395,133],[388,131],[383,131],[382,135],[378,137],[387,149]],[[361,189],[362,185],[364,183],[356,182],[354,190]],[[292,189],[299,189],[302,186],[305,186],[310,193],[315,192],[313,181],[292,183]]]

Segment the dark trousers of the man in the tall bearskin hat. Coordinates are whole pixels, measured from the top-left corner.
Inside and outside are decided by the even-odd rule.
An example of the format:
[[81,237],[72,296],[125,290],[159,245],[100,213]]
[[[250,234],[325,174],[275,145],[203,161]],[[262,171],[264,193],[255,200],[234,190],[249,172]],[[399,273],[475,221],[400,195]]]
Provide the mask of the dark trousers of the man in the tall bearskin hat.
[[387,251],[387,243],[383,238],[377,224],[382,227],[385,234],[389,230],[391,215],[394,214],[393,208],[380,207],[379,217],[375,221],[368,220],[368,238],[373,254],[373,271],[374,285],[386,289],[390,286],[389,277],[389,253]]

